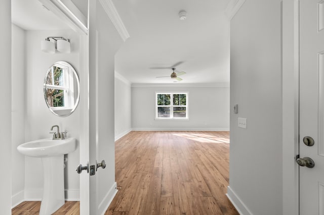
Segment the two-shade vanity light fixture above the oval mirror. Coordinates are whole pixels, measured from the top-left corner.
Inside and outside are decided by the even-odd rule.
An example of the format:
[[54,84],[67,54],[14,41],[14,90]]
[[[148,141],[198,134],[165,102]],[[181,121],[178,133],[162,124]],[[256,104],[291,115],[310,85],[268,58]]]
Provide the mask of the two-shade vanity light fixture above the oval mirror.
[[[52,42],[50,39],[53,39]],[[55,53],[55,49],[63,53],[69,53],[71,51],[70,39],[65,39],[59,36],[50,36],[41,42],[41,49],[47,53]]]

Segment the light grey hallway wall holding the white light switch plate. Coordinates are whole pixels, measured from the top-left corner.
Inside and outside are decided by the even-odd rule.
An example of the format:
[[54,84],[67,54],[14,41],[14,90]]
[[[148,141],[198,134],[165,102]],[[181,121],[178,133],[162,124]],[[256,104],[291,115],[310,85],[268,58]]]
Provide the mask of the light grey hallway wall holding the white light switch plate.
[[241,214],[282,214],[280,17],[280,0],[248,0],[231,20],[228,195]]

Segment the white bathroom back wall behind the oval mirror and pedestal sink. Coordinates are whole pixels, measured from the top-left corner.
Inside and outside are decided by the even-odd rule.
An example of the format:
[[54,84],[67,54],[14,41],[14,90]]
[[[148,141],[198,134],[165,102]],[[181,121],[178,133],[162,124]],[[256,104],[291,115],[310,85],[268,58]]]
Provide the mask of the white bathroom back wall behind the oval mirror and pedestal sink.
[[[41,51],[41,40],[48,36],[63,36],[71,42],[71,53],[48,54]],[[43,84],[47,70],[57,61],[70,63],[79,72],[79,37],[72,30],[26,31],[25,69],[25,141],[52,137],[49,134],[53,125],[67,131],[67,137],[75,137],[79,143],[79,107],[65,118],[52,114],[44,99]],[[80,98],[82,99],[82,98]],[[79,175],[75,168],[79,164],[79,147],[67,155],[65,163],[65,197],[79,198]],[[41,199],[43,190],[43,170],[41,158],[25,157],[25,200]]]

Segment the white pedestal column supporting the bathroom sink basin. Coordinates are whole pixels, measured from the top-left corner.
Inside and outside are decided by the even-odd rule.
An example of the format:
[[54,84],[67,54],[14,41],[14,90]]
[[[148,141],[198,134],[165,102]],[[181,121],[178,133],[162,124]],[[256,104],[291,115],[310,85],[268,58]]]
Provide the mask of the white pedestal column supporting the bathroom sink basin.
[[39,215],[54,213],[64,203],[64,155],[42,157],[44,188]]

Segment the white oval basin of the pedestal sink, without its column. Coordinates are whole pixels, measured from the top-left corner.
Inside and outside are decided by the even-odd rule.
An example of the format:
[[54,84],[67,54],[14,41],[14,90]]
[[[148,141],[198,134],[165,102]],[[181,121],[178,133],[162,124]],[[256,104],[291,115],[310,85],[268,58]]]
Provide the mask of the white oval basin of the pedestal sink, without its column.
[[76,149],[76,140],[72,137],[64,140],[39,139],[23,143],[17,149],[20,153],[31,157],[59,156],[74,151]]

